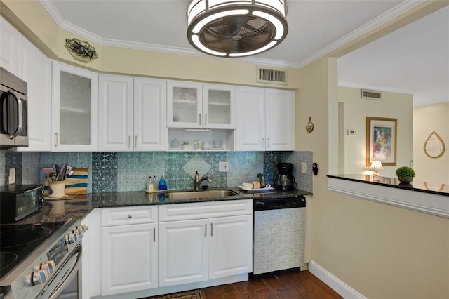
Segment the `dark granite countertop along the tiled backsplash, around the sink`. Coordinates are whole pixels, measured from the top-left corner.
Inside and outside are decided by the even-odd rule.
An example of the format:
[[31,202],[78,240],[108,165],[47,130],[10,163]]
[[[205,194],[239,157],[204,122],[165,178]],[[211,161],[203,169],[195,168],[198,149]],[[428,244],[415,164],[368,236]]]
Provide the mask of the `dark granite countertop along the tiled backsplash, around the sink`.
[[[62,222],[70,218],[83,219],[94,208],[114,208],[123,206],[150,206],[159,204],[186,204],[192,202],[206,201],[229,201],[241,199],[257,199],[257,198],[286,198],[293,197],[296,194],[310,195],[311,192],[303,190],[295,191],[278,191],[263,193],[250,193],[240,190],[238,187],[222,188],[232,190],[237,195],[232,197],[215,197],[206,199],[167,199],[164,193],[147,194],[145,191],[133,192],[95,192],[89,194],[78,195],[74,199],[44,199],[43,208],[29,217],[20,220],[18,224],[39,223],[39,222]],[[183,190],[173,190],[178,192]],[[192,191],[192,190],[190,190]],[[69,197],[70,198],[70,197]]]

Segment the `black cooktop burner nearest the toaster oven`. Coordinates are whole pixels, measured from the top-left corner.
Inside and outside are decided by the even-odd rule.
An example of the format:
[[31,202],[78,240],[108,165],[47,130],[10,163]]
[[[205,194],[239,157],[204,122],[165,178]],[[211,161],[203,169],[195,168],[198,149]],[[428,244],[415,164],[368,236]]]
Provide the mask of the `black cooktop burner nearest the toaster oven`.
[[21,246],[33,241],[45,239],[51,234],[51,230],[39,225],[33,227],[20,227],[15,230],[6,230],[0,232],[0,249]]

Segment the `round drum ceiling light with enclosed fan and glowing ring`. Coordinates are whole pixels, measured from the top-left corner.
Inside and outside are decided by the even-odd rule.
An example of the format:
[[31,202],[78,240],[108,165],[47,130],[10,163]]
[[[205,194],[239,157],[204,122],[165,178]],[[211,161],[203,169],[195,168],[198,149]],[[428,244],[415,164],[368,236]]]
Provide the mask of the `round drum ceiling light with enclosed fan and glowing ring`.
[[286,0],[192,0],[187,39],[209,55],[255,55],[286,38],[286,16]]

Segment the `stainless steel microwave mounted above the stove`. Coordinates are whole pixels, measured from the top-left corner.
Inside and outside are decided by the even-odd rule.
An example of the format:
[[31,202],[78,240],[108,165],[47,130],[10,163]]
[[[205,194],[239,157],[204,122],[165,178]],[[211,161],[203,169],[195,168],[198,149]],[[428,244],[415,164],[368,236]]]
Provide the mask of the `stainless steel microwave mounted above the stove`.
[[27,82],[0,67],[0,148],[28,146]]

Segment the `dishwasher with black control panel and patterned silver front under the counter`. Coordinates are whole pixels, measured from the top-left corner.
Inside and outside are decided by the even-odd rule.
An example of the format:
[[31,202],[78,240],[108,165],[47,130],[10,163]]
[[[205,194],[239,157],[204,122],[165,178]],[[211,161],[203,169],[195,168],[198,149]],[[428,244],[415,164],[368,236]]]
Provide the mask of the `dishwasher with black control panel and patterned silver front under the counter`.
[[302,195],[254,199],[253,277],[304,267],[305,206]]

